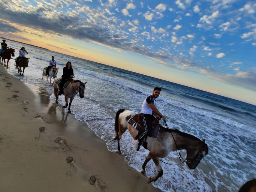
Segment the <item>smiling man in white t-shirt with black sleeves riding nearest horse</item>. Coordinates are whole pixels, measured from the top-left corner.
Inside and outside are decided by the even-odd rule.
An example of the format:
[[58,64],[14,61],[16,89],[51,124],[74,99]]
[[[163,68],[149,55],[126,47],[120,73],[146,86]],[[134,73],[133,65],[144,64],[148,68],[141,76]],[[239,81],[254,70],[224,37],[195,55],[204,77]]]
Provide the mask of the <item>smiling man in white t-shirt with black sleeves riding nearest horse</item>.
[[163,116],[158,109],[155,107],[156,101],[155,99],[158,98],[160,95],[161,88],[155,87],[152,95],[148,96],[142,104],[141,108],[141,117],[142,122],[145,127],[145,132],[141,135],[137,136],[138,139],[134,140],[134,146],[135,148],[139,149],[139,144],[143,140],[143,137],[149,132],[152,131],[152,121],[155,119],[153,115],[155,115],[157,118],[161,119],[163,118],[165,120],[165,116]]

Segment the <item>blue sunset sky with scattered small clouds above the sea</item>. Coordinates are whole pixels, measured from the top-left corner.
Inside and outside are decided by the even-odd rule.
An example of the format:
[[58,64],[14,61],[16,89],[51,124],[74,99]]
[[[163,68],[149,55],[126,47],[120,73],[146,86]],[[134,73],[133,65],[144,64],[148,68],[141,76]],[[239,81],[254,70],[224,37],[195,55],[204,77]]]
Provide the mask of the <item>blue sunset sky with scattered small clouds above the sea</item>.
[[0,6],[1,37],[256,105],[256,1],[0,0]]

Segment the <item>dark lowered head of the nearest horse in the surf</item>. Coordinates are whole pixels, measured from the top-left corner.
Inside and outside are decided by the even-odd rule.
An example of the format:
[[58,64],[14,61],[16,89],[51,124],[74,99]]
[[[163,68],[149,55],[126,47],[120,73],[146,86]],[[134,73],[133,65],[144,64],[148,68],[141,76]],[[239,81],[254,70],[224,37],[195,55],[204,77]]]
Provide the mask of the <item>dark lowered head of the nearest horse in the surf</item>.
[[208,147],[205,140],[201,141],[201,146],[197,149],[187,149],[186,164],[189,169],[195,169],[201,159],[208,154]]

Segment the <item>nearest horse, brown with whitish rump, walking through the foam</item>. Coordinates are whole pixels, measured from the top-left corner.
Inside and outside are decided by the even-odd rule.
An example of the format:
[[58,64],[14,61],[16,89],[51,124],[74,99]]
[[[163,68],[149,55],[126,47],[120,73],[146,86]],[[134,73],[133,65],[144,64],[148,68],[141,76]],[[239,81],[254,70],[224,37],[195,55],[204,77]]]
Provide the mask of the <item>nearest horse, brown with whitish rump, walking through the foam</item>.
[[[120,109],[116,113],[116,137],[113,138],[113,140],[117,140],[118,142],[117,149],[119,153],[121,153],[119,140],[122,137],[122,134],[128,129],[134,140],[138,134],[138,131],[127,123],[135,114],[135,112],[125,109]],[[159,162],[161,161],[159,158],[165,158],[170,152],[185,149],[187,152],[187,157],[184,162],[190,169],[195,169],[200,163],[201,159],[208,153],[208,147],[205,143],[205,140],[200,140],[193,135],[173,129],[161,128],[157,139],[153,137],[147,137],[146,141],[149,155],[146,157],[146,160],[142,165],[141,173],[146,176],[145,167],[151,159],[154,161],[158,170],[158,174],[156,176],[153,178],[148,178],[148,183],[156,181],[163,175],[164,172]]]

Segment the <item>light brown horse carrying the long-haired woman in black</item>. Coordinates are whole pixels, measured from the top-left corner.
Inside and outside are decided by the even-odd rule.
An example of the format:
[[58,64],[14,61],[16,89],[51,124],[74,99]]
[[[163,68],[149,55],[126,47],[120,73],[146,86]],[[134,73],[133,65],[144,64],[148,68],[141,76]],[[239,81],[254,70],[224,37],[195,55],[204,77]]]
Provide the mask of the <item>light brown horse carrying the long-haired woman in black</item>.
[[[53,85],[54,85],[54,95],[56,97],[56,103],[58,103],[59,95],[58,95],[58,89],[59,89],[59,82],[61,81],[61,78],[54,79]],[[68,113],[71,113],[70,111],[70,106],[71,103],[74,99],[74,97],[77,95],[79,92],[79,97],[83,98],[84,97],[84,90],[85,90],[85,84],[87,82],[83,83],[79,80],[71,80],[71,82],[68,83],[68,85],[63,89],[64,95],[65,95],[65,102],[66,105],[63,106],[63,108],[68,107]],[[69,106],[68,106],[68,99],[69,100]]]

